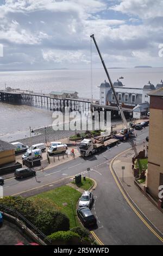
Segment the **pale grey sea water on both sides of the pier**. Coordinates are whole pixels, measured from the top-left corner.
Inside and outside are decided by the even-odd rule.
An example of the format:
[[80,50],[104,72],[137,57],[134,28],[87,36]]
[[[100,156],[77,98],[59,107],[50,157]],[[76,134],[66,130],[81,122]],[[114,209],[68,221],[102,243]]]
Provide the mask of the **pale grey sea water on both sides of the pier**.
[[[142,88],[149,81],[154,86],[163,79],[163,68],[108,69],[112,82],[124,77],[126,87]],[[6,87],[50,93],[60,90],[76,90],[79,97],[99,99],[99,86],[107,80],[103,69],[87,70],[41,70],[0,72],[0,89]],[[51,126],[52,111],[30,106],[16,106],[0,102],[0,139],[15,141],[29,136],[32,129]]]

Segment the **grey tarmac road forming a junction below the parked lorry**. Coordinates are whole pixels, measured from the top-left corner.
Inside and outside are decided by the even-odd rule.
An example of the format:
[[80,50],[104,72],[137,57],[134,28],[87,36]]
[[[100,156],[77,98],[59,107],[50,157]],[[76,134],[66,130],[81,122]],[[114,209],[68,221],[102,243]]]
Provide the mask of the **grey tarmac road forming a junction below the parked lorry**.
[[[95,234],[105,245],[162,245],[162,242],[138,217],[118,188],[110,170],[109,163],[113,157],[127,150],[134,144],[142,144],[148,135],[148,128],[137,131],[137,137],[128,142],[122,142],[118,147],[103,151],[101,154],[83,159],[69,161],[46,171],[37,172],[36,178],[21,181],[11,178],[5,181],[4,196],[26,191],[38,193],[44,186],[51,186],[52,182],[62,180],[78,173],[86,173],[91,168],[90,177],[97,181],[93,191],[95,204],[92,211],[97,216],[98,228]],[[34,188],[37,188],[34,190]],[[49,188],[48,188],[49,189]],[[143,217],[145,218],[145,217]],[[146,220],[147,221],[147,220]],[[149,223],[148,223],[149,224]],[[154,229],[154,227],[152,227]],[[156,231],[156,230],[155,230]]]

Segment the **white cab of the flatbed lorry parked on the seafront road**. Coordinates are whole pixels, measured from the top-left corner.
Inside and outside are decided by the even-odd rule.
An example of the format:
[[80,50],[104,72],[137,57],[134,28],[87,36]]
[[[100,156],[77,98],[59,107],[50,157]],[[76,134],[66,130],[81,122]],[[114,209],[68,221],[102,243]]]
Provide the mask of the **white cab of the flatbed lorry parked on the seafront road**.
[[91,139],[83,139],[82,142],[79,143],[79,152],[83,156],[91,156],[93,153],[93,142]]

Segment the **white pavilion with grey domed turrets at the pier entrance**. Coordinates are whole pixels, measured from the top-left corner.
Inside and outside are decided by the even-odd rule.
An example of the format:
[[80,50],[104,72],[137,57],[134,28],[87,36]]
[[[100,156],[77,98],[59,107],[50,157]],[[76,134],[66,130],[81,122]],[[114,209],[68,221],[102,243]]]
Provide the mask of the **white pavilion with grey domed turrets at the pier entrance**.
[[[122,107],[126,108],[134,108],[135,106],[141,104],[141,103],[150,103],[150,96],[149,93],[152,90],[155,90],[156,88],[162,88],[163,82],[156,85],[156,88],[154,85],[149,81],[143,88],[131,88],[126,87],[122,84],[121,81],[117,80],[113,84],[118,100],[121,103]],[[115,106],[116,100],[114,93],[112,92],[112,89],[110,87],[110,84],[106,81],[104,81],[100,88],[100,105],[103,106]]]

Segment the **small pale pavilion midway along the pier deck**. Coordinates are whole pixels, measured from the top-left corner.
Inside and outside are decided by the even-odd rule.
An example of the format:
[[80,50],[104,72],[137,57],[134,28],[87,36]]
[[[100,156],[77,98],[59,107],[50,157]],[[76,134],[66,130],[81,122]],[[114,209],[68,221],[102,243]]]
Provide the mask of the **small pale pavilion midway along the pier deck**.
[[61,92],[51,92],[50,97],[52,99],[77,99],[78,93],[76,91],[62,90]]

